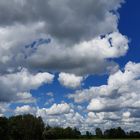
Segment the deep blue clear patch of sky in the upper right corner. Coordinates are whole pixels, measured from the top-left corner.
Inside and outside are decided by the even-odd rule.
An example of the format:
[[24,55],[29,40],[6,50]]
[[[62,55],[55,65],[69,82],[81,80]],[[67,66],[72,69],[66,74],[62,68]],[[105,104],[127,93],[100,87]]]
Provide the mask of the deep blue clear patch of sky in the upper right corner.
[[119,30],[130,39],[129,51],[127,55],[119,61],[123,65],[128,61],[140,62],[139,57],[139,1],[127,0],[123,7],[119,10]]

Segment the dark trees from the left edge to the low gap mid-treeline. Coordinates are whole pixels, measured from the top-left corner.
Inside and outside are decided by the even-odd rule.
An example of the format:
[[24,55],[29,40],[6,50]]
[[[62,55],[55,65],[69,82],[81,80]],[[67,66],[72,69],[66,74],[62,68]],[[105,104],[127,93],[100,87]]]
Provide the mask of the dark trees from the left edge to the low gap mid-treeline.
[[47,140],[58,138],[80,138],[76,128],[45,126],[41,117],[18,115],[0,117],[0,140]]

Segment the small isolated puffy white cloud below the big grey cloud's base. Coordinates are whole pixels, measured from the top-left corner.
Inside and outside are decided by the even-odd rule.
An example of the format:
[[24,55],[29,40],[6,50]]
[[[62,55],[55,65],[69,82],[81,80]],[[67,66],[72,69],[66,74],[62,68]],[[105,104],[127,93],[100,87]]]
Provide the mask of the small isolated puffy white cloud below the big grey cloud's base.
[[63,86],[74,89],[81,86],[83,77],[62,72],[59,74],[58,80]]

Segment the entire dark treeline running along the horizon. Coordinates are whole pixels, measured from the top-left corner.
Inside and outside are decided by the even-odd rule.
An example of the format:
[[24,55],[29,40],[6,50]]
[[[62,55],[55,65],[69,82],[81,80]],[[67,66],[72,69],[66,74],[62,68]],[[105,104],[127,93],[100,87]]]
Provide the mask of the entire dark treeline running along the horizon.
[[78,138],[140,138],[140,132],[125,132],[121,127],[104,132],[96,128],[95,134],[82,135],[76,128],[45,126],[41,117],[18,115],[10,118],[0,117],[0,140],[47,140]]

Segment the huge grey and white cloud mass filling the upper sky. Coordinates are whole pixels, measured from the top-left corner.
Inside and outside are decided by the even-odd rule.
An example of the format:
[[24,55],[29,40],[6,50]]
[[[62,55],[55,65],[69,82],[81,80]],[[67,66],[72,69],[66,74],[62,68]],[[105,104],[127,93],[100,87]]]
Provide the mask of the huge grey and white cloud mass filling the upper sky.
[[[116,64],[107,59],[123,56],[128,49],[127,38],[117,30],[115,13],[122,2],[2,0],[0,73],[19,66],[81,75],[114,70]],[[52,39],[50,45],[25,48],[47,37]]]

